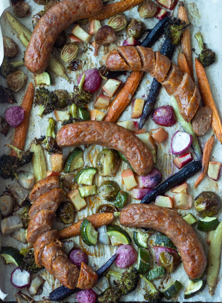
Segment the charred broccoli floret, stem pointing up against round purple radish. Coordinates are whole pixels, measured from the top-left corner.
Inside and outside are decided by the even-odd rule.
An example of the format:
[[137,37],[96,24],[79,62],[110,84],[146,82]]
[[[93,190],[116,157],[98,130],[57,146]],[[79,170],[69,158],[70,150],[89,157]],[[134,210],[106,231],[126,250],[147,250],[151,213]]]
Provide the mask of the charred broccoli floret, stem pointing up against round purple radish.
[[70,98],[67,100],[68,105],[75,103],[78,106],[84,106],[91,101],[92,94],[90,92],[85,92],[82,89],[84,81],[85,81],[85,74],[83,73],[79,85],[74,86],[73,93],[71,94]]

